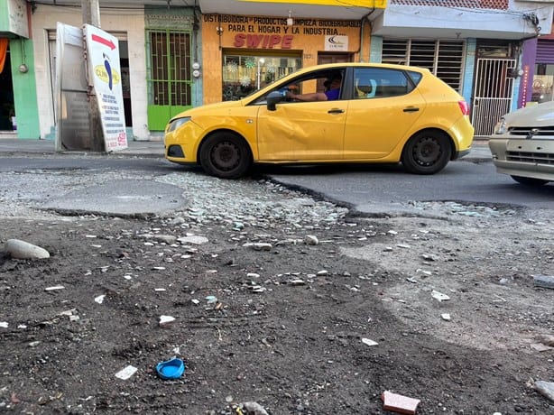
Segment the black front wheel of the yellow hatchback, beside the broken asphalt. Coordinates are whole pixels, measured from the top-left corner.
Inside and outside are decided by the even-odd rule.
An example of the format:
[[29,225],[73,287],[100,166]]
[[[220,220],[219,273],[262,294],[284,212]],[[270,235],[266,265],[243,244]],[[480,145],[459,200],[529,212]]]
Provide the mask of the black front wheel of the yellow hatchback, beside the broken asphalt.
[[244,176],[252,165],[252,152],[245,140],[233,133],[220,132],[209,136],[199,151],[200,166],[212,176],[236,179]]

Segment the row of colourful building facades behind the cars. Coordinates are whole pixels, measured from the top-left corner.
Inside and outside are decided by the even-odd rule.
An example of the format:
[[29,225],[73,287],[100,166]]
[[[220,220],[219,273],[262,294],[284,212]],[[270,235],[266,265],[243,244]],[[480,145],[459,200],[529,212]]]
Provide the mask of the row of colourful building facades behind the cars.
[[[428,68],[470,103],[477,135],[506,112],[552,99],[552,0],[182,3],[100,1],[101,28],[119,40],[129,139],[161,139],[183,109],[328,62]],[[53,139],[56,26],[80,27],[80,2],[4,0],[0,15],[10,16],[0,19],[0,137]]]

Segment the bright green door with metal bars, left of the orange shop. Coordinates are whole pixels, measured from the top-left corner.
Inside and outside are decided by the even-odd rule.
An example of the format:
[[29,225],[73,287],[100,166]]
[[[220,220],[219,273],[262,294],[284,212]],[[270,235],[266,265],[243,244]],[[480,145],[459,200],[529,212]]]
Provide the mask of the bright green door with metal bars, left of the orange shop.
[[148,129],[163,131],[171,116],[192,106],[190,32],[151,30],[148,74]]

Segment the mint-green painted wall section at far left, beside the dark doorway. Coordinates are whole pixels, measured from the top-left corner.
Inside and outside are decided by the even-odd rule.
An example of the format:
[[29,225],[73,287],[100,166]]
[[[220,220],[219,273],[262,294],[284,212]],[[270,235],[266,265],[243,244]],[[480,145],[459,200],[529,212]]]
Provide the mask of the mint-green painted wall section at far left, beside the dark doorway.
[[[24,59],[23,59],[24,51]],[[10,40],[12,79],[14,80],[14,106],[17,120],[18,138],[41,138],[39,126],[39,106],[34,78],[34,53],[32,41],[28,39]],[[25,62],[29,71],[22,73],[19,66]]]

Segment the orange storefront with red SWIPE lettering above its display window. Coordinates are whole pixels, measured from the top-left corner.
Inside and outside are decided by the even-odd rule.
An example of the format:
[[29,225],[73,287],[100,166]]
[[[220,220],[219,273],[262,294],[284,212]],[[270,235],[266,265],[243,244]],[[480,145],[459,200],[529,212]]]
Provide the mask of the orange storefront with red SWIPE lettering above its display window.
[[368,61],[362,21],[202,16],[204,103],[241,99],[300,68]]

